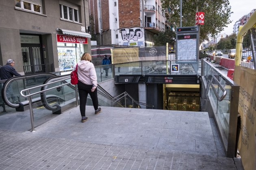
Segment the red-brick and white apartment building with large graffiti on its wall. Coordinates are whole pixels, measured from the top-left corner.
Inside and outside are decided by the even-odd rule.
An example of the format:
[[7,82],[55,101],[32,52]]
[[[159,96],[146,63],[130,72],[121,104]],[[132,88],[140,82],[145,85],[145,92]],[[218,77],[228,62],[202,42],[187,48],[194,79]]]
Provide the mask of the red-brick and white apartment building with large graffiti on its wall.
[[154,34],[171,28],[161,0],[89,0],[89,14],[97,45],[152,47]]

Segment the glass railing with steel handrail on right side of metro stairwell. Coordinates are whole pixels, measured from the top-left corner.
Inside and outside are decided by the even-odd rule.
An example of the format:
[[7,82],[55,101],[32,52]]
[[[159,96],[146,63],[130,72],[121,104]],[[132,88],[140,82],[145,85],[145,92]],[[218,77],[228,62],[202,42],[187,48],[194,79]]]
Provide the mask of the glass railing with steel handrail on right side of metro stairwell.
[[206,106],[209,104],[206,101],[210,101],[227,151],[228,147],[234,146],[231,143],[236,141],[234,129],[237,126],[239,98],[234,96],[239,96],[239,85],[205,60],[202,60],[202,82],[207,85],[206,90],[202,90],[204,97],[201,100],[201,110],[208,111]]

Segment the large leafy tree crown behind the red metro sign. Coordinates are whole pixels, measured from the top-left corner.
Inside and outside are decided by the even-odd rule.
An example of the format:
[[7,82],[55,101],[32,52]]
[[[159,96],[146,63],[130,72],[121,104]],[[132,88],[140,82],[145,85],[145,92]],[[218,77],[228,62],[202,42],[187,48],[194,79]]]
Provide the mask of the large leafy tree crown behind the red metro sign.
[[[162,8],[171,7],[172,25],[180,27],[180,0],[161,0]],[[200,44],[214,38],[230,21],[229,0],[182,0],[182,27],[195,26],[195,13],[204,12],[204,25],[200,26]]]

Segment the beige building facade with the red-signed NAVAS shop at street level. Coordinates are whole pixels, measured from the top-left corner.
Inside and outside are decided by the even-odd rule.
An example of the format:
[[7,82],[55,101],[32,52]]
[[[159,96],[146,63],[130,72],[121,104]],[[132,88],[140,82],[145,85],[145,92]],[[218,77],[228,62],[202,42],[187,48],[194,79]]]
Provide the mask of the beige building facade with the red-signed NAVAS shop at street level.
[[91,51],[86,0],[1,0],[0,65],[20,74],[72,70]]

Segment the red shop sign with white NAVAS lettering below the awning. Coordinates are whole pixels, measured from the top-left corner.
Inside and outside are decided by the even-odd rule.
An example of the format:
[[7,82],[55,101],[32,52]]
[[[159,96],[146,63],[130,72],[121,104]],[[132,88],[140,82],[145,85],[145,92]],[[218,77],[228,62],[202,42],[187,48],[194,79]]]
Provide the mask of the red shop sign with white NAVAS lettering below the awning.
[[57,34],[57,42],[58,43],[80,43],[80,44],[88,44],[87,37],[81,36],[67,36],[63,34]]

